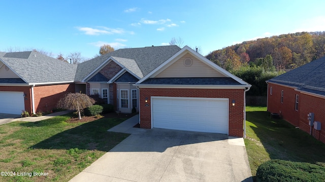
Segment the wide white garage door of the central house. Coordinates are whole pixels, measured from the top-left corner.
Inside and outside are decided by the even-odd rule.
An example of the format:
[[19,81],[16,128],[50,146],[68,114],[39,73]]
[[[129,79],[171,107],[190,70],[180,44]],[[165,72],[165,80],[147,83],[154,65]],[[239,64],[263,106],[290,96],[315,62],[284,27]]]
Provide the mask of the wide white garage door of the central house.
[[155,128],[228,134],[228,99],[152,97]]

